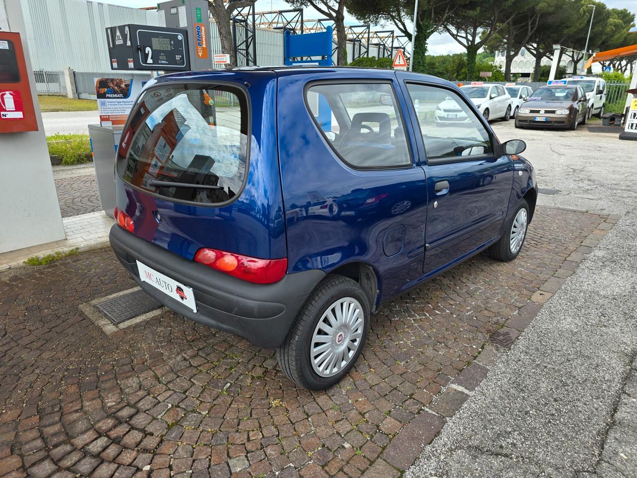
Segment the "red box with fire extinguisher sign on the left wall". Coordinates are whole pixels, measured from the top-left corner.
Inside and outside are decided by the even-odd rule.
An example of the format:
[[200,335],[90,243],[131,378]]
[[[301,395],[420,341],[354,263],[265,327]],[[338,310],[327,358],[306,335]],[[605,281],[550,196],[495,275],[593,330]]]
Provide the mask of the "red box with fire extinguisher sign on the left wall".
[[0,133],[38,131],[19,33],[0,31]]

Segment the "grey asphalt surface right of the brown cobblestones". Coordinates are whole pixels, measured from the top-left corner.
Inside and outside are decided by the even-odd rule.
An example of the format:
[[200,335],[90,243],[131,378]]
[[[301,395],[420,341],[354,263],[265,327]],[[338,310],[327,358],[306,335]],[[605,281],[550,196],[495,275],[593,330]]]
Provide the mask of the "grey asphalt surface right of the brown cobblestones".
[[623,217],[496,362],[406,477],[637,476],[637,143],[520,130],[538,203]]

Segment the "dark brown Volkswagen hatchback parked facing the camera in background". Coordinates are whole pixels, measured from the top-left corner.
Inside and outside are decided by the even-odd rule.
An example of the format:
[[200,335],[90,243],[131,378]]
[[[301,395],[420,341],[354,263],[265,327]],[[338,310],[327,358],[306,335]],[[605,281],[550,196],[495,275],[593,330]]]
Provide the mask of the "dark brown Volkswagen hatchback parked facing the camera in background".
[[590,117],[586,94],[581,86],[543,86],[522,103],[515,127],[576,129]]

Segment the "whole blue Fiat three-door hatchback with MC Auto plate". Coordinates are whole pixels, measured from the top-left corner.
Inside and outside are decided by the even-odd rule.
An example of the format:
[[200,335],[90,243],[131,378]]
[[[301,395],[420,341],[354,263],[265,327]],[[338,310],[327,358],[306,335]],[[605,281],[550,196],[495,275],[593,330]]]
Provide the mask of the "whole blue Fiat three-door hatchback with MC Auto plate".
[[276,349],[287,377],[324,389],[383,302],[482,250],[519,254],[537,194],[525,147],[432,76],[166,75],[122,134],[110,242],[155,300]]

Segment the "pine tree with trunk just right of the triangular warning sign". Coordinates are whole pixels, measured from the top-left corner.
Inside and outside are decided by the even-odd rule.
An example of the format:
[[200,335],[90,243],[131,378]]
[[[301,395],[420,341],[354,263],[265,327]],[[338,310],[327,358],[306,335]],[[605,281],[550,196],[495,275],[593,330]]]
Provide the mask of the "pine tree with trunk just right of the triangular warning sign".
[[414,0],[349,0],[347,11],[361,22],[383,24],[392,22],[413,43],[412,69],[427,73],[427,41],[468,0],[419,0],[416,15],[416,38],[412,39]]

